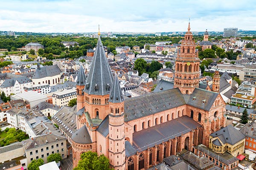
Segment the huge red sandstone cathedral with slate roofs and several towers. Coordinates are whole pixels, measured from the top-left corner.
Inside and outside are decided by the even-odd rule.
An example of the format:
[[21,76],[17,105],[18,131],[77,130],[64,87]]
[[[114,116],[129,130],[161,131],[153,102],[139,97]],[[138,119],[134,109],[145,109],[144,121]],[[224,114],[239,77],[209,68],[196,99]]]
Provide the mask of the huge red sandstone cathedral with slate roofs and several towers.
[[209,135],[226,126],[225,102],[218,72],[212,91],[199,88],[199,65],[189,23],[175,62],[174,88],[126,99],[99,36],[88,76],[80,67],[77,79],[73,167],[87,151],[107,156],[114,170],[145,170],[183,149],[208,147]]

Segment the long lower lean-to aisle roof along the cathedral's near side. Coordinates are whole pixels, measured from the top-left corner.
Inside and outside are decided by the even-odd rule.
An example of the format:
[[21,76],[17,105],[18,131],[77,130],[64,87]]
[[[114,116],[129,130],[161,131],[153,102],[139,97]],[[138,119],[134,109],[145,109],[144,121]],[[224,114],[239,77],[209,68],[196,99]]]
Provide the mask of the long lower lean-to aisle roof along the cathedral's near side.
[[[155,144],[167,142],[174,139],[175,136],[181,136],[201,125],[188,116],[182,116],[171,121],[149,127],[144,130],[133,133],[133,146],[141,152],[148,147],[154,147]],[[152,137],[154,136],[154,137]]]

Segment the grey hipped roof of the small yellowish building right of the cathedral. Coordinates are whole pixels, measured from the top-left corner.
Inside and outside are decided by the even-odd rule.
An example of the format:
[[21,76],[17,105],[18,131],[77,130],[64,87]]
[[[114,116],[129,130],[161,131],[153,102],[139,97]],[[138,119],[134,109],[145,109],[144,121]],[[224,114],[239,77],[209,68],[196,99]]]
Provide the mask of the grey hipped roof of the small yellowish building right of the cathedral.
[[218,137],[223,144],[228,143],[231,145],[236,144],[245,138],[245,136],[232,125],[228,125],[221,130],[210,134],[210,136]]

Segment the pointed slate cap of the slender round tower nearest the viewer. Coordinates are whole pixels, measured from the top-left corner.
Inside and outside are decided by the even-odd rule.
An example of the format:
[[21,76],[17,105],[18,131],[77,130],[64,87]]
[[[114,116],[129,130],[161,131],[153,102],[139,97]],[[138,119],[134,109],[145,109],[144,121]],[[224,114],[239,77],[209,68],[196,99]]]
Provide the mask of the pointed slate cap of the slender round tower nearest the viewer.
[[110,92],[109,102],[121,103],[124,100],[125,99],[124,99],[124,96],[122,95],[122,90],[121,90],[121,87],[119,85],[119,81],[118,81],[118,78],[116,75],[111,92]]

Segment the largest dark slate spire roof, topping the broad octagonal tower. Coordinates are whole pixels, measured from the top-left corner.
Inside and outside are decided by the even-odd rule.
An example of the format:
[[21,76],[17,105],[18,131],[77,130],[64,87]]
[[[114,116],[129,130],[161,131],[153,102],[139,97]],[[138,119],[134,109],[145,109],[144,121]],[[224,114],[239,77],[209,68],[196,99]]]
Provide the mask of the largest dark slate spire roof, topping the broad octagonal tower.
[[110,94],[112,85],[113,76],[99,36],[84,92],[103,96]]

